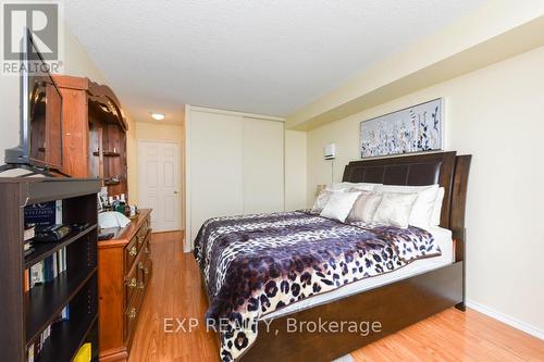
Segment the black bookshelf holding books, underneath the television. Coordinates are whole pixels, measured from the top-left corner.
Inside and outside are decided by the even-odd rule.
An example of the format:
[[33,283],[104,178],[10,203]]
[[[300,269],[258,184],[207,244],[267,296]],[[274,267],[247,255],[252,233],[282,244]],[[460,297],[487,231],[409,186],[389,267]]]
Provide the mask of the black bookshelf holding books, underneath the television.
[[[74,178],[0,178],[0,351],[2,361],[27,361],[29,346],[51,325],[35,362],[69,362],[91,344],[98,361],[97,192],[100,180]],[[34,242],[24,257],[24,207],[62,200],[64,224],[88,224],[58,242]],[[65,271],[25,290],[24,274],[65,248]],[[65,307],[70,319],[58,322]]]

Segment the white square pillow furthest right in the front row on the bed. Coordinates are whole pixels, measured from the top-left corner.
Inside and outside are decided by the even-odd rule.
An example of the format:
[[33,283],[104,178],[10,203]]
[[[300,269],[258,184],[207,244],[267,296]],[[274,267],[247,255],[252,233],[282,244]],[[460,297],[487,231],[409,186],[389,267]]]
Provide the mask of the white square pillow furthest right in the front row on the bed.
[[418,194],[383,192],[382,202],[378,207],[373,221],[407,228],[417,198]]

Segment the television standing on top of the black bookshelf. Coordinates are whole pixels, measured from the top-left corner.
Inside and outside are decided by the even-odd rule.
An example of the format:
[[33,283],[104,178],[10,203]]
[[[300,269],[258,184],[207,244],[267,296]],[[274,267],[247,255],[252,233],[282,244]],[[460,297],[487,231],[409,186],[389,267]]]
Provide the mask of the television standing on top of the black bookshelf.
[[20,143],[7,149],[13,167],[62,168],[62,96],[32,33],[21,42]]

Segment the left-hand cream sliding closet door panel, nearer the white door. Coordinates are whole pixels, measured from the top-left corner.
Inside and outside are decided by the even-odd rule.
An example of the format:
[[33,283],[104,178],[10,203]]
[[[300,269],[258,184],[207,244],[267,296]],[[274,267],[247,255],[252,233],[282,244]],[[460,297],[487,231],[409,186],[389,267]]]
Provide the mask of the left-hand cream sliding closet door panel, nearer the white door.
[[243,125],[240,116],[191,112],[187,195],[191,239],[206,220],[244,212]]

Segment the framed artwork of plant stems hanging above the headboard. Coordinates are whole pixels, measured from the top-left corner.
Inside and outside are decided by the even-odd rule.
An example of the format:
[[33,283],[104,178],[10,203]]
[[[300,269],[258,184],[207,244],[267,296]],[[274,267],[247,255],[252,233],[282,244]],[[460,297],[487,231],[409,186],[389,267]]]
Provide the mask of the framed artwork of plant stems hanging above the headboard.
[[443,149],[443,99],[360,123],[361,159]]

